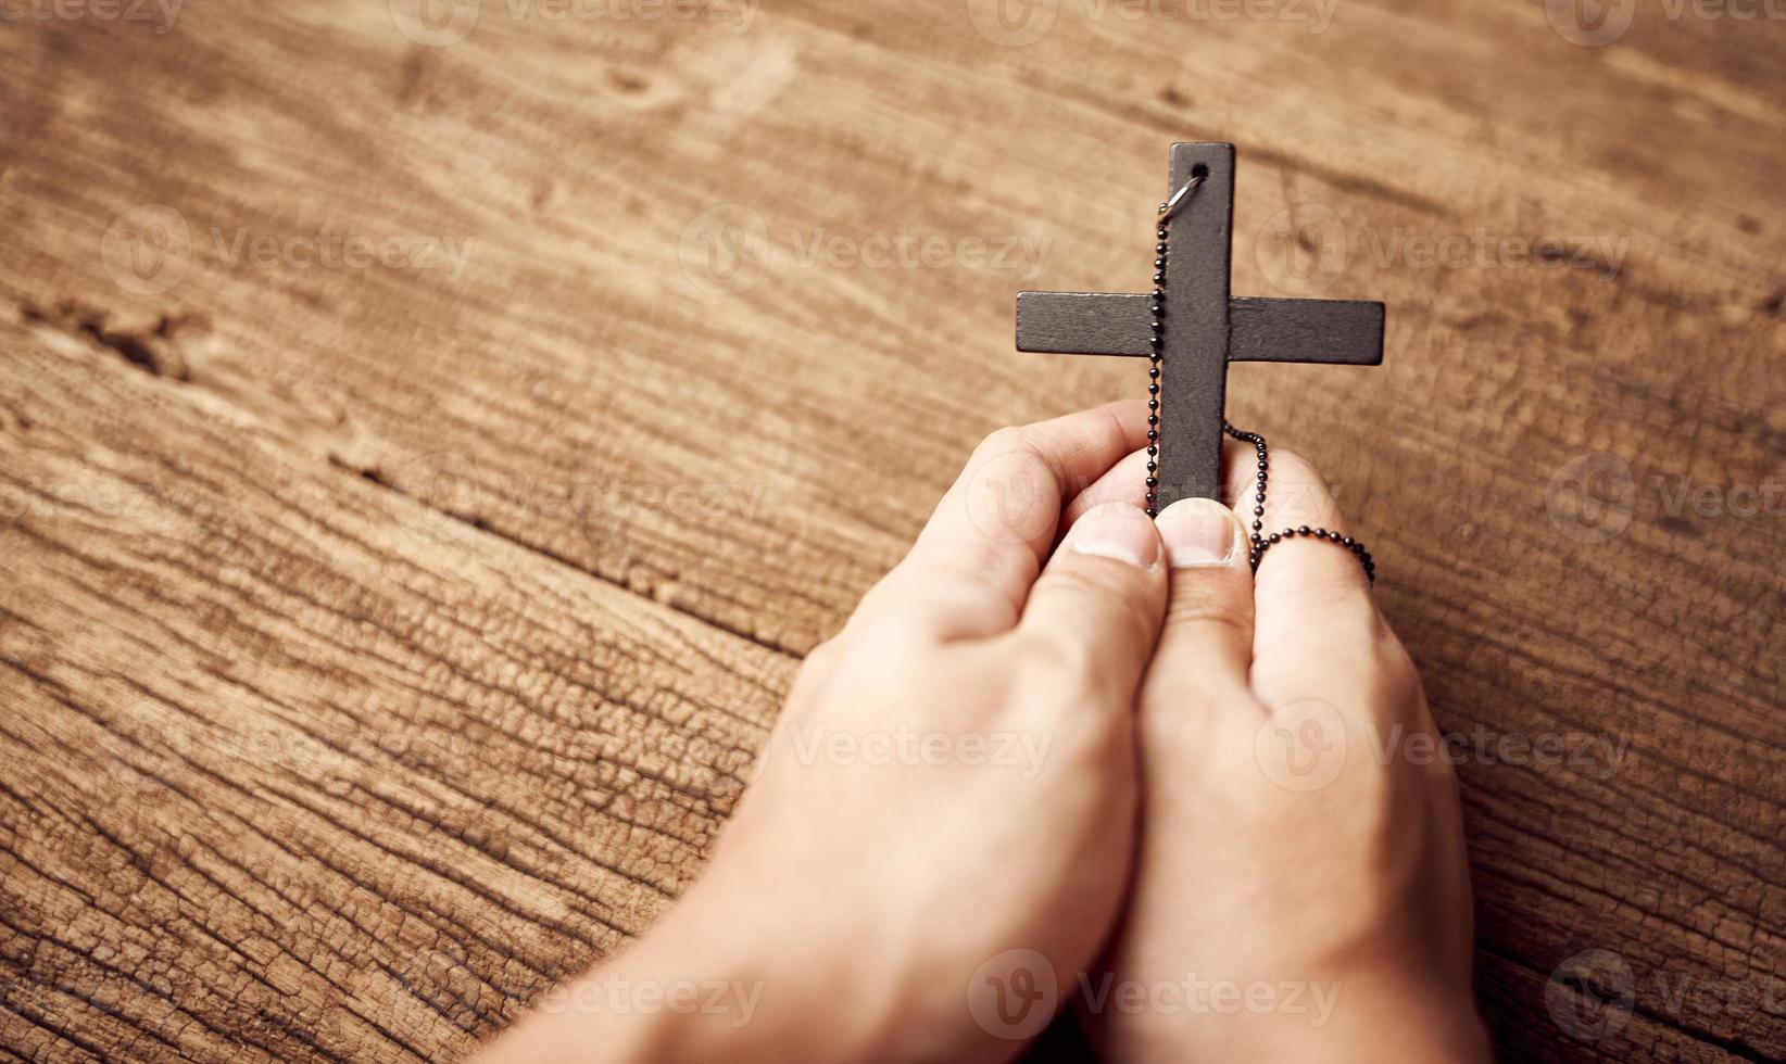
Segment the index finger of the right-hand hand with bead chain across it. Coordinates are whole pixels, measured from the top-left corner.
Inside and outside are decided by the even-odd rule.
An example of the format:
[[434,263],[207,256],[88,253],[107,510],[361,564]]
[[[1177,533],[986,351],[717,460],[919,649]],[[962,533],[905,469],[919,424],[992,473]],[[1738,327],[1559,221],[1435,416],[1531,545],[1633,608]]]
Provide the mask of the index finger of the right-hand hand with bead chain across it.
[[1286,528],[1347,536],[1327,482],[1286,450],[1273,450],[1270,466],[1264,536],[1279,541],[1266,546],[1254,578],[1254,682],[1268,703],[1322,698],[1370,661],[1386,630],[1350,548],[1306,534],[1284,537]]

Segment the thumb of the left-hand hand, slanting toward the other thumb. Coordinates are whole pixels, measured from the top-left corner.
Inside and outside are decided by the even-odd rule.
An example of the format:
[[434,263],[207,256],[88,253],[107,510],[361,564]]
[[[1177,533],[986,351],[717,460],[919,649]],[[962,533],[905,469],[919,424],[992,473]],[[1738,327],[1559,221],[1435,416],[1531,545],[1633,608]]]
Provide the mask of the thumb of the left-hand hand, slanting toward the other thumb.
[[1127,705],[1166,609],[1164,553],[1141,509],[1113,502],[1086,511],[1036,578],[1018,636],[1082,664]]

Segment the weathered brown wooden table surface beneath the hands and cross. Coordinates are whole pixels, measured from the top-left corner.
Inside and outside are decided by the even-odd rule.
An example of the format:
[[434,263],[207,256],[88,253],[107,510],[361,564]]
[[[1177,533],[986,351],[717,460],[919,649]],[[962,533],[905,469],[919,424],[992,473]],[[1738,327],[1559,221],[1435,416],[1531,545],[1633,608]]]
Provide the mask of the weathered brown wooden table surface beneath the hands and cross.
[[1234,293],[1390,307],[1229,409],[1457,734],[1500,1052],[1786,1055],[1786,25],[1573,11],[7,0],[0,1052],[457,1055],[636,935],[1232,141]]

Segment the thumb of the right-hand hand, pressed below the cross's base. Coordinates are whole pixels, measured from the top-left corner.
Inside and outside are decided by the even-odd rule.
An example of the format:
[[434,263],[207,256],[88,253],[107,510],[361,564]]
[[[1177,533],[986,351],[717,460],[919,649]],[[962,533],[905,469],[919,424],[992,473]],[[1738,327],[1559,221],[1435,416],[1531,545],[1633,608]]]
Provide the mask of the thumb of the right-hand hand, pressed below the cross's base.
[[1234,511],[1186,498],[1159,514],[1172,598],[1147,700],[1213,702],[1245,696],[1252,668],[1252,562]]

